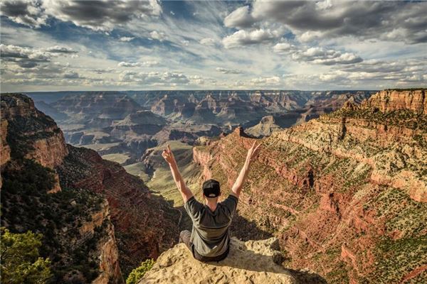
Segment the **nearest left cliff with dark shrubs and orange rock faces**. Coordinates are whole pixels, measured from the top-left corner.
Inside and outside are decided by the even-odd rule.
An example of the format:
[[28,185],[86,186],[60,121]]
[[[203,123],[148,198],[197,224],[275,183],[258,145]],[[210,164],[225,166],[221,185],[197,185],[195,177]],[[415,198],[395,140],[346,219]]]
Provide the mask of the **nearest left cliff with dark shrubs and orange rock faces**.
[[68,149],[55,122],[21,94],[1,95],[1,119],[1,226],[43,234],[50,283],[122,283],[107,200],[59,187]]

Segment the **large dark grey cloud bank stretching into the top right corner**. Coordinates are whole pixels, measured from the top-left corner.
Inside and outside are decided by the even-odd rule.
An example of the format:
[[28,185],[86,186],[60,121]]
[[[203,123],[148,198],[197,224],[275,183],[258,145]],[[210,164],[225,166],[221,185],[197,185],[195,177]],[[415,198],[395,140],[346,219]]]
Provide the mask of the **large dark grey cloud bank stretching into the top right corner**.
[[350,35],[427,42],[425,1],[255,1],[248,10],[243,6],[230,13],[227,25],[282,23],[301,41]]

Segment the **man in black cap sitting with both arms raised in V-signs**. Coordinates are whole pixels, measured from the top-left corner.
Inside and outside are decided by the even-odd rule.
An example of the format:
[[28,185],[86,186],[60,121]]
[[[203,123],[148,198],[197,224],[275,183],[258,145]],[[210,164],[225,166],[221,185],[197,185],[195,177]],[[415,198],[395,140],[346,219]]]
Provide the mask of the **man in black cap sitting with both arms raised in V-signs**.
[[221,195],[219,182],[216,180],[204,182],[203,197],[205,204],[198,202],[189,187],[186,186],[169,146],[163,151],[162,156],[169,163],[176,187],[178,187],[184,200],[184,208],[193,221],[192,232],[181,231],[179,240],[186,244],[197,260],[221,261],[228,256],[230,249],[228,226],[230,226],[231,219],[236,211],[238,197],[248,175],[249,166],[255,159],[259,146],[260,144],[256,145],[254,142],[248,150],[245,164],[231,188],[230,195],[223,202],[218,202],[218,197]]

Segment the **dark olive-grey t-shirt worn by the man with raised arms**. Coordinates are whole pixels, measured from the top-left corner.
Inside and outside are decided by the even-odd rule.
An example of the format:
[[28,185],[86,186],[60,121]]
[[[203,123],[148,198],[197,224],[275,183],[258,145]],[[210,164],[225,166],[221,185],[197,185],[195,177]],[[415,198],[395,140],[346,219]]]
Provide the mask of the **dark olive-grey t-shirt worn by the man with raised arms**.
[[236,212],[237,202],[237,197],[228,195],[212,212],[206,204],[201,204],[194,196],[187,200],[184,208],[193,220],[190,241],[201,256],[220,256],[226,252],[230,239],[228,226]]

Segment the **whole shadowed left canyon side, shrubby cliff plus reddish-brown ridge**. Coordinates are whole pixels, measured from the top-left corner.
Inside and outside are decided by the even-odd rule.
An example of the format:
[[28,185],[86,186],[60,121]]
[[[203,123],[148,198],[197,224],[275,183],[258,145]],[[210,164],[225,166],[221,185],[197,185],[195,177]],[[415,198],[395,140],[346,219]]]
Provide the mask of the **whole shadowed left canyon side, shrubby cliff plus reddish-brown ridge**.
[[66,145],[56,123],[22,94],[2,94],[1,115],[1,224],[43,233],[53,283],[122,283],[121,270],[176,243],[180,213],[142,180]]

